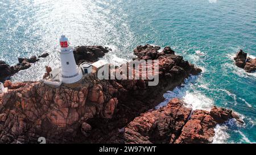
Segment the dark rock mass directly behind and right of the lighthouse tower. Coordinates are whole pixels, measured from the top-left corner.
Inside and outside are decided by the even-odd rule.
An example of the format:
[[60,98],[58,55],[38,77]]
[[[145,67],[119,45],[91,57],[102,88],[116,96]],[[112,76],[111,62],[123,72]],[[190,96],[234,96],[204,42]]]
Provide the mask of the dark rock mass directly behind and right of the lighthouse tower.
[[108,47],[102,46],[79,46],[73,51],[76,64],[82,62],[95,62],[99,57],[103,57],[105,53],[112,51]]

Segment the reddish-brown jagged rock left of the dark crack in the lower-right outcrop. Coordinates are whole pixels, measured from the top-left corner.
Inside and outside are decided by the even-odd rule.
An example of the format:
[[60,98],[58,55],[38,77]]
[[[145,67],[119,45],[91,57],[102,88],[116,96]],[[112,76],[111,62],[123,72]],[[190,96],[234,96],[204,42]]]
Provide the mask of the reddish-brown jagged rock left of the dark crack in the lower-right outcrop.
[[125,143],[173,143],[191,111],[179,99],[172,99],[159,110],[141,114],[125,128]]

